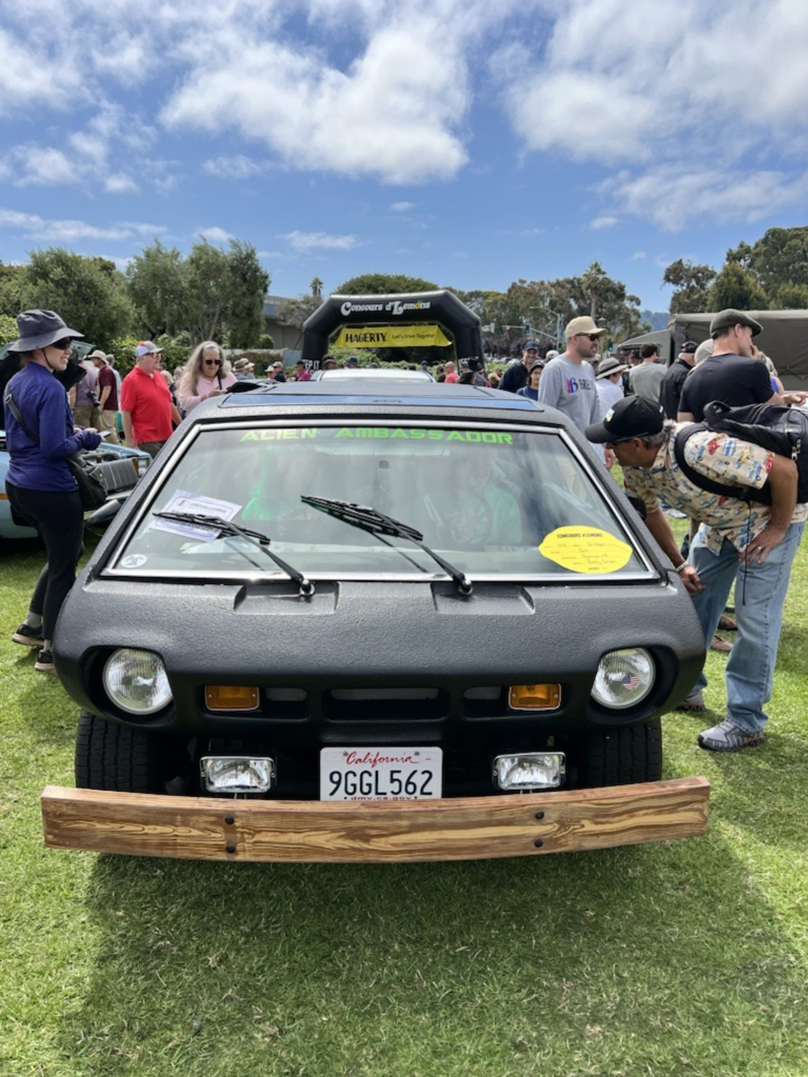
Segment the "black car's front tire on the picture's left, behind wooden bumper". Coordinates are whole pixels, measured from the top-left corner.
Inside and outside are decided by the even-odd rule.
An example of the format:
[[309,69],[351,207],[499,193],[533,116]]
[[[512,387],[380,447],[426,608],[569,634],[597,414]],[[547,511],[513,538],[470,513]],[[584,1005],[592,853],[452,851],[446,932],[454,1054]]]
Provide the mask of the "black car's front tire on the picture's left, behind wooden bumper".
[[80,789],[162,793],[157,738],[82,711],[75,736],[75,784]]

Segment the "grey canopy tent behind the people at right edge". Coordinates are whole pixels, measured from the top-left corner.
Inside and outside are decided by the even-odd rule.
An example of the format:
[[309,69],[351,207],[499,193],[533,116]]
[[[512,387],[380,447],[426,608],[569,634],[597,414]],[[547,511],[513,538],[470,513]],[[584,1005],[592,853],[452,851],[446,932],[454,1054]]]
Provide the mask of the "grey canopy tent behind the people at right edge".
[[[808,389],[808,310],[750,310],[763,325],[755,344],[777,367],[786,389]],[[673,314],[666,330],[645,333],[617,346],[617,352],[631,351],[644,344],[659,345],[663,363],[672,363],[685,340],[700,344],[710,336],[714,313]]]

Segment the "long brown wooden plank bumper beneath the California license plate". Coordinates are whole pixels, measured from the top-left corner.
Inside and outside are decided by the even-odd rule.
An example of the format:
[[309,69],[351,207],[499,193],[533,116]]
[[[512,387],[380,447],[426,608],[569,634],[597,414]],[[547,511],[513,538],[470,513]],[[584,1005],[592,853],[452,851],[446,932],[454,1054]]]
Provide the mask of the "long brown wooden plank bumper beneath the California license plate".
[[224,800],[48,785],[45,843],[182,859],[365,862],[532,856],[689,838],[707,829],[710,783],[683,778],[600,789],[424,803]]

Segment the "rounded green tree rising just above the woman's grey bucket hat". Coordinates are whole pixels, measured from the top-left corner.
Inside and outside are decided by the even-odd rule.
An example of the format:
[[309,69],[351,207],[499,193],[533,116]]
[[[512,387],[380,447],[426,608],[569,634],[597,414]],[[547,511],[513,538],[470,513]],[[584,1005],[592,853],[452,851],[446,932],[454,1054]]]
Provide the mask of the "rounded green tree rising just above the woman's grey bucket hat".
[[20,309],[55,310],[100,348],[124,336],[133,323],[133,306],[114,263],[61,247],[30,252],[19,304]]

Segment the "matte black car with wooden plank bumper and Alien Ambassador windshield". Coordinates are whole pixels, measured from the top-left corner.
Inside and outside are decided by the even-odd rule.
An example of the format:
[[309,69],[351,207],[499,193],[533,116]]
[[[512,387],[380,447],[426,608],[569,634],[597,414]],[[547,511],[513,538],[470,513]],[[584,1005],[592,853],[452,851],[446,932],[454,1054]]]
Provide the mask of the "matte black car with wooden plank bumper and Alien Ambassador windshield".
[[[507,855],[492,820],[541,821],[540,794],[585,815],[604,787],[675,792],[660,715],[705,656],[681,581],[559,412],[324,378],[194,409],[68,597],[54,651],[81,709],[78,789],[60,795],[83,823],[54,824],[52,843],[267,859],[338,859],[346,842],[364,859]],[[117,824],[99,838],[114,806],[137,824],[123,843]],[[170,840],[145,822],[166,806]],[[184,844],[192,806],[221,835],[191,826]],[[619,826],[589,825],[589,844],[618,843]],[[587,847],[580,827],[567,848]]]

